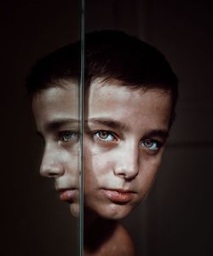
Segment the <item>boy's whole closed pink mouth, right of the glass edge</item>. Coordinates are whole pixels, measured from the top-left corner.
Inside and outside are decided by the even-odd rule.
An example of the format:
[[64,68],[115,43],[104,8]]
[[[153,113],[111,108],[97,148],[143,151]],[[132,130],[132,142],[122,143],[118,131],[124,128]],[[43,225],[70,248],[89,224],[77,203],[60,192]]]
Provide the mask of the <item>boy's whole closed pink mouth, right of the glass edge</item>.
[[126,204],[131,201],[135,192],[124,189],[101,189],[102,193],[107,196],[109,200],[117,204]]

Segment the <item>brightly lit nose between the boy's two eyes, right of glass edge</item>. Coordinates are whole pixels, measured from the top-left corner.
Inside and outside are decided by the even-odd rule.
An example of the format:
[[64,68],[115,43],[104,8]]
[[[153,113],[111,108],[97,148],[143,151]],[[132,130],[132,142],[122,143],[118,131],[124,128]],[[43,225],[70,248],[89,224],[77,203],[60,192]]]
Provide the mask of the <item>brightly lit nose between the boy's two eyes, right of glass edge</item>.
[[119,148],[114,174],[119,177],[131,180],[138,175],[139,172],[139,147],[138,145],[126,145]]

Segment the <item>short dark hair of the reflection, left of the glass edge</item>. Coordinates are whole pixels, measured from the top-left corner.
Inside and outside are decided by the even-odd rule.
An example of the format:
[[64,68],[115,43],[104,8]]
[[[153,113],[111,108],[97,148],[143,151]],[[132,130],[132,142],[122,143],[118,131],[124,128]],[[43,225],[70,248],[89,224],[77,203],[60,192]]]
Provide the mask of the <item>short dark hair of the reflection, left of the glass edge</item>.
[[37,61],[26,79],[28,94],[33,96],[40,90],[56,85],[60,79],[79,79],[80,54],[80,44],[76,42],[57,49]]

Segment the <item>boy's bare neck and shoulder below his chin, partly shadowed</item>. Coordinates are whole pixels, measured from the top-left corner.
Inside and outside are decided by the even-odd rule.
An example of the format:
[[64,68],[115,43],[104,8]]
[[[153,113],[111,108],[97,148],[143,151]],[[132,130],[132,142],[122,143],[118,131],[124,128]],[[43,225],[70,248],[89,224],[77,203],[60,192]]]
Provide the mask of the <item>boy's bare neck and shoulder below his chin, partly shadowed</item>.
[[135,256],[132,238],[122,224],[112,220],[99,224],[101,229],[94,230],[93,236],[89,236],[91,241],[84,247],[85,256]]

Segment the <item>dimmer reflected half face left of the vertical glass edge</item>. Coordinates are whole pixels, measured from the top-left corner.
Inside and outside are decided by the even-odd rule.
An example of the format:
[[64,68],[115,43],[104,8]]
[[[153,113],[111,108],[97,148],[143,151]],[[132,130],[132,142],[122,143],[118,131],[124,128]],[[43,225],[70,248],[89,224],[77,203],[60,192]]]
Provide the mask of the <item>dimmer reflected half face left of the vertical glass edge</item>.
[[61,82],[33,96],[37,132],[45,144],[40,173],[51,177],[60,200],[78,216],[78,85]]

